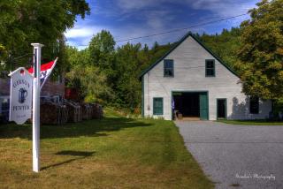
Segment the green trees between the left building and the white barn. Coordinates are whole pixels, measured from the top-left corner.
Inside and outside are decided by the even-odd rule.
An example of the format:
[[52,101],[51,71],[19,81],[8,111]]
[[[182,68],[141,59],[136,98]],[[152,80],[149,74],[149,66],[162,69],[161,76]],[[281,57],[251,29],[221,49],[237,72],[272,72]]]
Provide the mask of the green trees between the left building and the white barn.
[[142,83],[139,75],[171,45],[155,42],[149,49],[148,45],[142,47],[140,43],[127,43],[118,48],[115,44],[111,33],[102,30],[93,36],[88,49],[79,51],[68,47],[68,86],[79,88],[86,101],[99,100],[119,109],[140,112]]

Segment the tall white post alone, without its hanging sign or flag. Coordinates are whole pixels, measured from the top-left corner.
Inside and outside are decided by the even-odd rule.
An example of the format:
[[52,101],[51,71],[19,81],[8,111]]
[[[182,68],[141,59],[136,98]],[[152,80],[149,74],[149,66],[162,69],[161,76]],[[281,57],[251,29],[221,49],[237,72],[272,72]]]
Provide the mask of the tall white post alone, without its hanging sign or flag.
[[33,170],[39,172],[40,163],[40,95],[41,95],[41,58],[42,47],[40,43],[34,46],[34,86],[33,86]]

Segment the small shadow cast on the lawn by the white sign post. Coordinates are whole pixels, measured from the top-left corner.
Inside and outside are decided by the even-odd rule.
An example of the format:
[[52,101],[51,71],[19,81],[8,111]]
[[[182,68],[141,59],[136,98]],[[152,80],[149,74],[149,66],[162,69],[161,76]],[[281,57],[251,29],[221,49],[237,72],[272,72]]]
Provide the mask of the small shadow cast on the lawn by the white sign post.
[[62,163],[55,163],[55,164],[51,164],[51,165],[42,167],[41,170],[47,170],[49,168],[54,168],[54,167],[57,167],[57,166],[60,166],[60,165],[66,164],[66,163],[72,163],[72,162],[77,161],[77,160],[85,159],[85,158],[92,156],[94,154],[95,154],[95,152],[83,152],[83,151],[72,151],[72,150],[60,151],[60,152],[57,152],[55,155],[72,155],[72,156],[77,156],[77,157],[70,159],[70,160],[66,160]]

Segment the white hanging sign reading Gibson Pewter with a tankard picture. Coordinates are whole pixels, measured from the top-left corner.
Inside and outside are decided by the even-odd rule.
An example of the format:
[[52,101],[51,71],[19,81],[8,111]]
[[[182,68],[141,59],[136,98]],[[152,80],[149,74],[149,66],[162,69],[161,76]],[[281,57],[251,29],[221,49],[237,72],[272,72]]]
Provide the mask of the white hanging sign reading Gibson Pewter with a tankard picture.
[[32,114],[33,76],[23,67],[9,74],[10,90],[10,121],[18,125],[24,124]]

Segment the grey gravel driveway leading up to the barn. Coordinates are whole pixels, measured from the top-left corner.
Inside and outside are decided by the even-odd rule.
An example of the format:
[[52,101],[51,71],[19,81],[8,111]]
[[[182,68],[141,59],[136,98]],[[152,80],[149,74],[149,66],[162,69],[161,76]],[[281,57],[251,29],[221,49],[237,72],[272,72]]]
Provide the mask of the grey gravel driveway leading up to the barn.
[[283,126],[175,123],[216,188],[283,188]]

